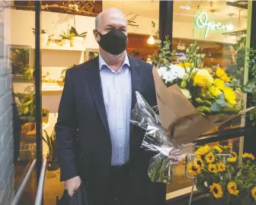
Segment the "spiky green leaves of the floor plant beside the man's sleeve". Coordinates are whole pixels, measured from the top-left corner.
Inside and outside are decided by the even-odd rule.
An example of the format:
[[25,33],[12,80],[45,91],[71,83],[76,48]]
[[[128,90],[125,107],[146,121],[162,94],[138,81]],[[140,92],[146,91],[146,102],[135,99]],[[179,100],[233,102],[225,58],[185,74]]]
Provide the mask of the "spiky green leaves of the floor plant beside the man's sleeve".
[[56,132],[53,129],[53,132],[51,135],[49,135],[45,130],[43,130],[46,134],[46,138],[43,137],[43,141],[47,144],[49,148],[49,153],[47,155],[47,159],[51,161],[57,160],[57,145],[56,145]]

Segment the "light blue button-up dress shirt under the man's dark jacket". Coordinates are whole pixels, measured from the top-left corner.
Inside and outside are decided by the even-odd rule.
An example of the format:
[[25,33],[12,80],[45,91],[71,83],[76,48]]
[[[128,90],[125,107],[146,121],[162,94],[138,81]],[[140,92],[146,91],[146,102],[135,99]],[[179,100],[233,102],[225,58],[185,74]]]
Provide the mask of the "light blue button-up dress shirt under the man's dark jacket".
[[101,87],[112,144],[111,166],[121,166],[130,157],[130,112],[132,80],[130,61],[125,55],[116,72],[99,55]]

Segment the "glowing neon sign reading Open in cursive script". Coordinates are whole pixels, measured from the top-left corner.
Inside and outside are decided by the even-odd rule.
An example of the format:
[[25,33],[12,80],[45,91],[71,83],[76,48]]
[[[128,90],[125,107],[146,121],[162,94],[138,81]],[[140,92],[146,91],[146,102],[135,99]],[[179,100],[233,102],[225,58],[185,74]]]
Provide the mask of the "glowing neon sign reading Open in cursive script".
[[196,26],[200,29],[203,29],[204,27],[206,27],[206,32],[204,34],[205,39],[210,30],[229,30],[230,31],[234,29],[234,26],[232,24],[223,25],[220,22],[215,23],[212,21],[208,21],[208,16],[205,12],[202,12],[197,16]]

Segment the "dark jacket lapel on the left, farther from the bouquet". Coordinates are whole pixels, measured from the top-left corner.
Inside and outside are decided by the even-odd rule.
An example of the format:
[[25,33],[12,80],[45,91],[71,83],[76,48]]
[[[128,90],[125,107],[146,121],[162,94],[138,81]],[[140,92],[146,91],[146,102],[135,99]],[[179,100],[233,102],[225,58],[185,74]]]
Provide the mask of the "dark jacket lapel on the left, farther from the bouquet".
[[100,76],[100,68],[98,58],[94,58],[91,61],[91,65],[88,65],[86,73],[86,82],[90,87],[91,96],[94,99],[96,107],[98,109],[98,113],[101,117],[101,121],[103,122],[104,128],[107,131],[107,134],[110,136],[110,130],[107,123],[107,113],[104,104],[104,97],[101,87],[101,76]]

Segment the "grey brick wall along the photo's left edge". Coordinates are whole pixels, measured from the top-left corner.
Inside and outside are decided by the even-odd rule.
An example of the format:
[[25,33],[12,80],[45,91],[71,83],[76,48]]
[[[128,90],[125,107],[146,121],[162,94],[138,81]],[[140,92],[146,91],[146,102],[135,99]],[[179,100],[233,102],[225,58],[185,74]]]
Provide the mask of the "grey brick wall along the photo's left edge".
[[4,24],[7,26],[8,21],[0,11],[0,204],[10,204],[14,194],[14,137],[11,74],[4,66]]

